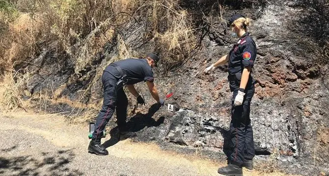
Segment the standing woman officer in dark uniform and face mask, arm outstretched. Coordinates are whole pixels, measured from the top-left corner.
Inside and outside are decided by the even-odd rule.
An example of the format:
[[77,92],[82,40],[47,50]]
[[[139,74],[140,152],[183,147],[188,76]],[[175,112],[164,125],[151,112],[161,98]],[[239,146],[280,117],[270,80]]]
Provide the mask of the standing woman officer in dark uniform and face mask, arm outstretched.
[[244,15],[235,15],[228,27],[232,34],[240,37],[229,54],[221,57],[216,63],[204,70],[205,73],[229,61],[228,80],[233,92],[231,109],[231,147],[228,155],[229,165],[219,168],[218,173],[225,176],[242,176],[242,167],[253,168],[252,158],[255,155],[252,127],[250,125],[250,101],[255,92],[251,68],[256,58],[256,44],[247,32],[249,19]]

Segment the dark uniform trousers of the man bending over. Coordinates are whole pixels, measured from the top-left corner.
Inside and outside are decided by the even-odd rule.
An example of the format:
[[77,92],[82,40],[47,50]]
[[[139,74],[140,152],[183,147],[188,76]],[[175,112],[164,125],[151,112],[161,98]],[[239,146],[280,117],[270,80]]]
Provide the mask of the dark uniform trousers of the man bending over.
[[92,139],[100,139],[103,135],[105,126],[110,121],[114,110],[116,110],[116,118],[119,130],[126,131],[127,106],[128,99],[123,90],[116,90],[115,84],[119,78],[114,77],[109,72],[104,71],[102,75],[102,83],[104,86],[103,107],[100,110],[96,123],[95,131],[92,134]]

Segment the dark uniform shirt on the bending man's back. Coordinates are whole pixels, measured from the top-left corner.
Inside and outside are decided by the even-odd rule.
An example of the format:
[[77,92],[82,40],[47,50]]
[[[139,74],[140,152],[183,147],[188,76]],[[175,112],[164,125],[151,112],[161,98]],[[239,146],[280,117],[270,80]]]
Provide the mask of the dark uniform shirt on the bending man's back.
[[[136,84],[141,81],[153,82],[154,80],[152,68],[146,59],[124,59],[114,63],[127,75],[127,85]],[[109,72],[116,78],[122,76],[112,65],[107,66],[104,71]]]

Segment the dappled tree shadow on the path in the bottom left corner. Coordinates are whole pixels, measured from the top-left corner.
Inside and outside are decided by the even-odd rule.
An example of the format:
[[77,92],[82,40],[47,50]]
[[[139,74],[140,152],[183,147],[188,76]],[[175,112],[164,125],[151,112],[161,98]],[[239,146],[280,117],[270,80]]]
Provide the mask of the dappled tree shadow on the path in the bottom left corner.
[[[82,176],[78,170],[68,168],[75,154],[72,150],[58,150],[55,153],[41,152],[42,156],[25,155],[6,157],[6,152],[13,151],[17,146],[1,150],[0,175],[5,176],[38,176],[47,173],[49,176]],[[36,159],[41,158],[41,159]]]

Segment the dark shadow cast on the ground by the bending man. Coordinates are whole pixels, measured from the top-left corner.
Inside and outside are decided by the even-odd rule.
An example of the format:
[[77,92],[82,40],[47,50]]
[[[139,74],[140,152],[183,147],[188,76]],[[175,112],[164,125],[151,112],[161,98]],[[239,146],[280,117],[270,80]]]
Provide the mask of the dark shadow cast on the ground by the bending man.
[[[164,123],[164,117],[160,117],[157,121],[154,120],[152,117],[153,115],[161,108],[159,103],[153,104],[149,109],[147,114],[137,113],[134,117],[132,117],[127,122],[127,127],[129,131],[137,132],[145,127],[151,126],[160,126]],[[103,147],[108,148],[110,146],[115,145],[120,140],[118,126],[115,126],[110,130],[111,138],[108,141],[105,141]]]

